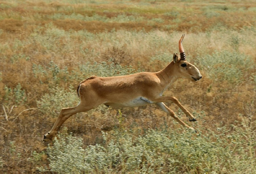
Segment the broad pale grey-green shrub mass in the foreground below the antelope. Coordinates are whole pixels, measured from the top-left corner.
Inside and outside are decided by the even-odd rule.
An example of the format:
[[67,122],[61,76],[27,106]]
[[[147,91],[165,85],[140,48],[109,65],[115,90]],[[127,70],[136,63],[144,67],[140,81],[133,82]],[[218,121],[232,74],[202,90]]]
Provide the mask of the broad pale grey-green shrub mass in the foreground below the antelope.
[[[163,128],[138,132],[102,132],[103,144],[82,148],[82,139],[59,134],[47,148],[55,172],[84,173],[252,173],[256,164],[255,122],[241,117],[242,126],[215,131]],[[40,168],[41,171],[47,169]]]

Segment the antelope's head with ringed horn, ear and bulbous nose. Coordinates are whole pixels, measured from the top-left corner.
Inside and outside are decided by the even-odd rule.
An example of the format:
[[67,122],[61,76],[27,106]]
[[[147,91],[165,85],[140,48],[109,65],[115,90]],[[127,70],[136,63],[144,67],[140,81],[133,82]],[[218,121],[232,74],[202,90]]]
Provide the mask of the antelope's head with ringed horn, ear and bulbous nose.
[[178,53],[173,54],[173,62],[177,68],[175,71],[179,74],[179,78],[189,79],[191,81],[197,81],[202,78],[199,70],[195,65],[190,64],[186,60],[186,54],[182,46],[182,41],[185,37],[185,34],[181,36],[179,41],[179,50],[180,55]]

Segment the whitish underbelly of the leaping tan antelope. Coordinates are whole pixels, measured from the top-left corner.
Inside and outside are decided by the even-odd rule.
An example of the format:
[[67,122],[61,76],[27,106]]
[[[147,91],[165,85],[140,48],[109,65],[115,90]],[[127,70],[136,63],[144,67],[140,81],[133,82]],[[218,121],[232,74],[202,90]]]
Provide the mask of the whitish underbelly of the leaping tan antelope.
[[148,104],[152,104],[153,102],[150,101],[145,101],[141,99],[141,97],[133,99],[131,101],[122,101],[122,102],[107,102],[104,103],[105,105],[108,106],[113,106],[113,107],[119,107],[119,108],[134,108],[138,106],[145,106]]

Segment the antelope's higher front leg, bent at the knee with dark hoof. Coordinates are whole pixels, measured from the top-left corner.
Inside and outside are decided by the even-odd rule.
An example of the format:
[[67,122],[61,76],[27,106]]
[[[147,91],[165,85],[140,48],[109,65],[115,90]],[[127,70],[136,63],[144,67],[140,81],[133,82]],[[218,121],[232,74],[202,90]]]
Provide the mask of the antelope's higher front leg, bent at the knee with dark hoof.
[[188,117],[189,121],[196,121],[195,117],[190,114],[190,112],[188,112],[188,110],[186,110],[186,108],[184,108],[184,106],[182,106],[179,102],[179,100],[176,97],[170,97],[170,96],[159,96],[158,98],[154,99],[154,102],[174,102],[175,104],[177,104],[180,109],[186,114],[186,116]]

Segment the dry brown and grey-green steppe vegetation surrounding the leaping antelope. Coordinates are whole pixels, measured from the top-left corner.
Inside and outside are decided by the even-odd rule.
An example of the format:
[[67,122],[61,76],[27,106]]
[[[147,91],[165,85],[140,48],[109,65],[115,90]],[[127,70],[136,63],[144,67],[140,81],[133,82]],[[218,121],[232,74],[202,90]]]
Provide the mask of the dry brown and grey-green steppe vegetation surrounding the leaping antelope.
[[[178,41],[203,78],[156,106],[100,106],[43,142],[90,77],[164,68]],[[0,0],[0,173],[256,173],[256,2]]]

